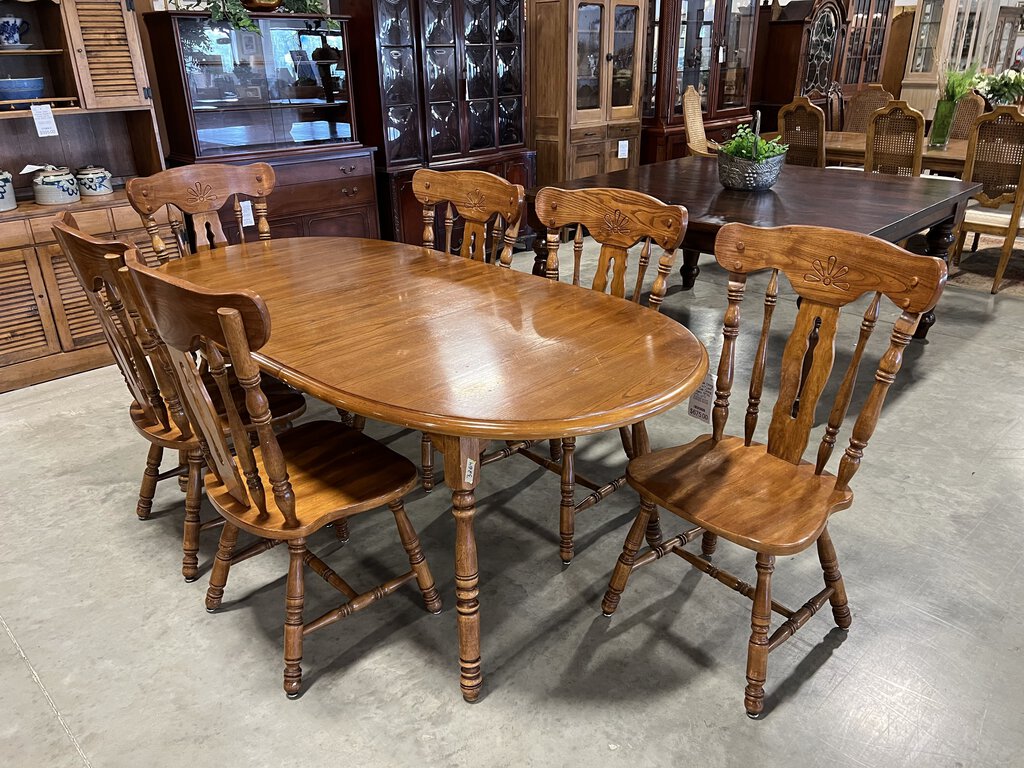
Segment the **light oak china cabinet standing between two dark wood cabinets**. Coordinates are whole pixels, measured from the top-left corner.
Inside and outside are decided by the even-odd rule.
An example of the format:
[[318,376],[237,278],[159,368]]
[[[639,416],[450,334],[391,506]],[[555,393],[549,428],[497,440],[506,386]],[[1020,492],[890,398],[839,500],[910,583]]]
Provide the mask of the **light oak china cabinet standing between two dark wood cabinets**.
[[529,0],[538,183],[639,163],[644,0]]

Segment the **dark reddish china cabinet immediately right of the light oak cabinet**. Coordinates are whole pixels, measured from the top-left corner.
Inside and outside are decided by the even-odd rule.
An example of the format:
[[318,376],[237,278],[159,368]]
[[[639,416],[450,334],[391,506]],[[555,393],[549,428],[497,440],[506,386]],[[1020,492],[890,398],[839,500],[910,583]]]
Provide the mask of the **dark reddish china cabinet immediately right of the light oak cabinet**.
[[644,163],[686,152],[683,92],[700,94],[705,132],[722,140],[751,119],[756,0],[652,0],[644,77]]

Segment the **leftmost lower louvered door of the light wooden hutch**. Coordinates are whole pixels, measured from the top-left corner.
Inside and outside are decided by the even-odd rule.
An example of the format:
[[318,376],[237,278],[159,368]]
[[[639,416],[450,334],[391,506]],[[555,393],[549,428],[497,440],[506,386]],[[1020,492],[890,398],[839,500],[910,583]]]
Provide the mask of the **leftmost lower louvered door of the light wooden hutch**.
[[59,351],[35,251],[0,251],[0,366]]

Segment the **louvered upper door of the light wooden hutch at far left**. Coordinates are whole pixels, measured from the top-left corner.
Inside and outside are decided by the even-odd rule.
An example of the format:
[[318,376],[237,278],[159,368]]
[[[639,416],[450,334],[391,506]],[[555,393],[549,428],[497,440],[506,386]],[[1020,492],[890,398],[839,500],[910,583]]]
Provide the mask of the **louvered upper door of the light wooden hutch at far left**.
[[125,0],[63,0],[60,9],[82,105],[147,105],[138,26]]

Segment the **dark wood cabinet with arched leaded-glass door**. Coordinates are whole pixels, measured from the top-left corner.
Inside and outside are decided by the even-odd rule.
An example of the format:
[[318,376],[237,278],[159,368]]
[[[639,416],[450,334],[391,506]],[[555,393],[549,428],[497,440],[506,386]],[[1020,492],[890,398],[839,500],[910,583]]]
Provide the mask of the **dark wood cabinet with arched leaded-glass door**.
[[760,12],[752,108],[761,110],[761,127],[774,130],[779,109],[796,96],[826,94],[836,87],[847,10],[841,0],[793,0],[765,3]]

